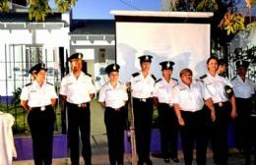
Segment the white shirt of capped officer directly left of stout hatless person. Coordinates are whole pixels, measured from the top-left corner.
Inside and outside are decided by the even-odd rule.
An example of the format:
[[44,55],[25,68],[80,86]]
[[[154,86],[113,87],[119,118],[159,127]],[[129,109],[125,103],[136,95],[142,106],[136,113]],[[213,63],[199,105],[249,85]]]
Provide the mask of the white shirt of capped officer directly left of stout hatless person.
[[160,103],[172,104],[172,90],[177,81],[170,79],[167,83],[163,78],[155,84],[153,96],[158,97]]

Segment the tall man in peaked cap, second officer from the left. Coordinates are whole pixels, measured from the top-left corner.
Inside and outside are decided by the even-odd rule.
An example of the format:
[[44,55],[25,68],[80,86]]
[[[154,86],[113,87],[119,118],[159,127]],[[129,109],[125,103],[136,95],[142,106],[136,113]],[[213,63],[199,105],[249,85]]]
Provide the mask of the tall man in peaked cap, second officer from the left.
[[72,165],[79,165],[80,134],[85,163],[92,164],[90,101],[95,96],[96,88],[92,78],[82,72],[82,59],[82,53],[72,54],[68,58],[72,72],[63,78],[60,86],[60,96],[67,102],[68,144]]

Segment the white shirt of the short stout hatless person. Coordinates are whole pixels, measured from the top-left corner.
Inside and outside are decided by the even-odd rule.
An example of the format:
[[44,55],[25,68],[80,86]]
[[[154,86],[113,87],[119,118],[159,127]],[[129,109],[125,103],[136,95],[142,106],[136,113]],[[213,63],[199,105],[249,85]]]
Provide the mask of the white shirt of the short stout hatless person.
[[193,82],[190,87],[184,83],[174,86],[173,104],[178,104],[180,110],[196,112],[204,107],[204,100],[211,97],[203,83]]

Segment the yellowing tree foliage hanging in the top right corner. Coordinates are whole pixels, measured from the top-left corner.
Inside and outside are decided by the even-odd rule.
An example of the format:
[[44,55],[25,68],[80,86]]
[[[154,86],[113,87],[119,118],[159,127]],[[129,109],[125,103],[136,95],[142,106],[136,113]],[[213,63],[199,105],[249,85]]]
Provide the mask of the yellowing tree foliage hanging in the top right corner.
[[[256,0],[244,0],[247,8],[246,14],[256,5]],[[227,35],[235,34],[245,29],[244,16],[237,11],[235,0],[172,0],[171,11],[214,12],[214,23],[224,29]],[[220,20],[221,19],[221,20]],[[218,22],[215,22],[219,20]]]

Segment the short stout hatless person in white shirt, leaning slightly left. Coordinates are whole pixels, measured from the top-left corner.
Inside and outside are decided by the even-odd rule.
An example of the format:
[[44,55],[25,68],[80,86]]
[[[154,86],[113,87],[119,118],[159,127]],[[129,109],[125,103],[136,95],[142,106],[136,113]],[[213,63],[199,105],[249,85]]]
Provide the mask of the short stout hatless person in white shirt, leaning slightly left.
[[181,83],[173,90],[173,104],[178,123],[185,165],[192,165],[194,142],[196,142],[197,164],[206,165],[207,153],[207,112],[204,104],[211,110],[215,120],[215,108],[211,94],[201,82],[192,81],[192,71],[180,72]]

